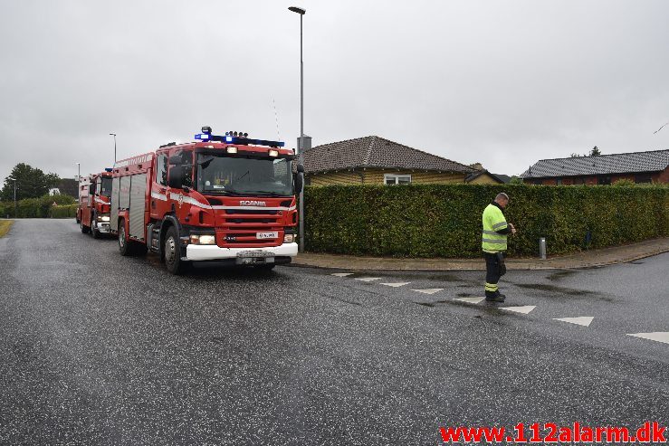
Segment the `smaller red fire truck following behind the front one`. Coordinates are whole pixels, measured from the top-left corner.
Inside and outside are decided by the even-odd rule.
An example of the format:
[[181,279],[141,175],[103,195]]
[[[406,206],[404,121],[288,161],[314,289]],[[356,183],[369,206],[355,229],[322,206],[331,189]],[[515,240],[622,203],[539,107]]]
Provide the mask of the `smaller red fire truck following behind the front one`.
[[79,179],[76,220],[94,239],[110,233],[111,169]]

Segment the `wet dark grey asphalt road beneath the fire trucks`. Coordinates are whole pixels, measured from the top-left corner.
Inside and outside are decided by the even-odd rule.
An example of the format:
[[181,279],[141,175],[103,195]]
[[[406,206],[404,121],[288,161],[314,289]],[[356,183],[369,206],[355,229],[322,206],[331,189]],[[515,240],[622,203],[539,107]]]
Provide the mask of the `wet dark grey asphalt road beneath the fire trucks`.
[[[440,444],[669,424],[669,254],[597,270],[167,273],[71,221],[0,239],[0,444]],[[357,279],[379,278],[362,281]],[[404,283],[390,287],[381,283]],[[413,289],[440,289],[425,294]],[[554,318],[594,317],[589,327]]]

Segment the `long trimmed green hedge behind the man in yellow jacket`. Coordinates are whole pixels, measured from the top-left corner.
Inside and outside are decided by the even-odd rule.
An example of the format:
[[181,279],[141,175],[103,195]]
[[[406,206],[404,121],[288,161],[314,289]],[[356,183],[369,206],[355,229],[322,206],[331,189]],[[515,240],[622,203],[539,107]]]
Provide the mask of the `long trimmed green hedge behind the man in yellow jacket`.
[[395,257],[475,257],[481,214],[499,192],[519,230],[509,253],[535,256],[669,236],[668,187],[536,185],[326,186],[305,190],[308,251]]

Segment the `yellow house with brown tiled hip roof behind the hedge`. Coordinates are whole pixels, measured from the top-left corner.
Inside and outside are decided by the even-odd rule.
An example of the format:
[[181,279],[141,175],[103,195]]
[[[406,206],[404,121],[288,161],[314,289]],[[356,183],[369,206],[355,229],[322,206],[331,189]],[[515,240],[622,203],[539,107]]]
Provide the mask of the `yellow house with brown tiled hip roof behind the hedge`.
[[323,144],[304,152],[307,185],[404,185],[464,183],[470,166],[386,138]]

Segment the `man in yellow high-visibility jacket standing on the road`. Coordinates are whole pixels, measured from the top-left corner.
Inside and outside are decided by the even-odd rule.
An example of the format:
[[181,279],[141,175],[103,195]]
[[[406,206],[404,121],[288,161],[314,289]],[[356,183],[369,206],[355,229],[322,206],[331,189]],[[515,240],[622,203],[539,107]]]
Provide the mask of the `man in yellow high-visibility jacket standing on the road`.
[[497,282],[506,272],[504,252],[506,237],[516,233],[516,228],[506,222],[502,211],[509,204],[509,195],[498,194],[491,204],[483,211],[483,234],[481,247],[485,257],[485,299],[492,302],[503,302]]

